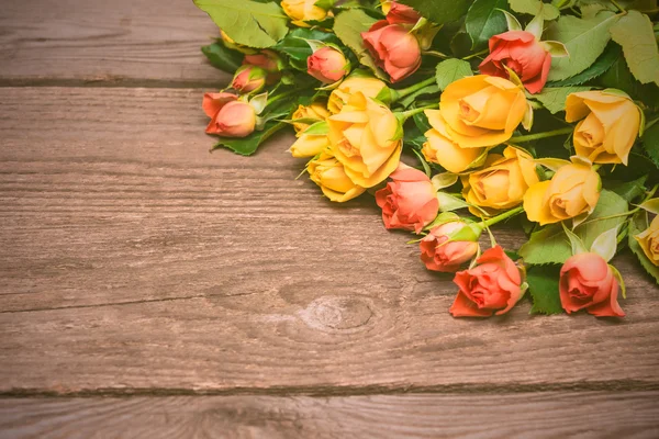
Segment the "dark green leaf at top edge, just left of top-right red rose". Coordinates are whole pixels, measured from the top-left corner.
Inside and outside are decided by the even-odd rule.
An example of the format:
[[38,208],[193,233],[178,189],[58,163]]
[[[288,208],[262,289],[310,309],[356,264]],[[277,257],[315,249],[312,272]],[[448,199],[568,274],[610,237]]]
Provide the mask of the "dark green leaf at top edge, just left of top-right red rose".
[[507,0],[476,0],[467,18],[465,26],[471,36],[472,48],[487,46],[490,37],[506,31],[505,14],[500,9],[506,9]]

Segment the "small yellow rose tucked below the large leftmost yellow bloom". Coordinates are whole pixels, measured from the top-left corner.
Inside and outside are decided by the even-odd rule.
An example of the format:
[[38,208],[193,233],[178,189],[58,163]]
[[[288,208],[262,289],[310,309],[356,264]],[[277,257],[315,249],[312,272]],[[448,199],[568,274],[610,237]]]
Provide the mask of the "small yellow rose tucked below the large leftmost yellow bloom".
[[344,166],[330,153],[323,153],[306,167],[311,180],[321,187],[330,200],[344,203],[359,196],[366,189],[358,187],[346,176]]

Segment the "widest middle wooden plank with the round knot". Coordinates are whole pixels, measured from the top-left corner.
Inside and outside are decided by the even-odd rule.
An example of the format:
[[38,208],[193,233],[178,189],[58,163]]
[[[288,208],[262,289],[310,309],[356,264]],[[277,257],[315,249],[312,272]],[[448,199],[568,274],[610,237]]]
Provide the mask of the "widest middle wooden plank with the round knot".
[[453,319],[450,277],[372,200],[294,180],[290,135],[209,155],[200,98],[0,89],[0,392],[657,387],[657,286],[630,258],[622,322]]

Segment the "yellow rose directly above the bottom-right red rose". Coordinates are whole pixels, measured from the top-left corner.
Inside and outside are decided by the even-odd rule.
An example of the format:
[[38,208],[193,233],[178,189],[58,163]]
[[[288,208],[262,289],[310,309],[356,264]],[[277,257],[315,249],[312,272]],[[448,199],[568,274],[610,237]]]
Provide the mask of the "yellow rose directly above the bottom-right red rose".
[[588,215],[595,209],[601,189],[600,176],[592,167],[566,165],[550,181],[540,181],[528,188],[524,195],[524,210],[528,219],[540,225]]

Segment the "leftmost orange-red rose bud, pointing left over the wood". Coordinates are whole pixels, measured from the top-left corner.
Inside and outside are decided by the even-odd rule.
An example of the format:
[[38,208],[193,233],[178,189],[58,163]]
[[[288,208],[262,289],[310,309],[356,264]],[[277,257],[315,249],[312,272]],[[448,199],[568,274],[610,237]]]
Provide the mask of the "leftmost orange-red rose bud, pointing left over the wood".
[[245,137],[256,127],[256,112],[246,102],[238,101],[231,93],[206,93],[203,97],[203,111],[211,123],[206,127],[208,134],[217,134],[222,137]]

